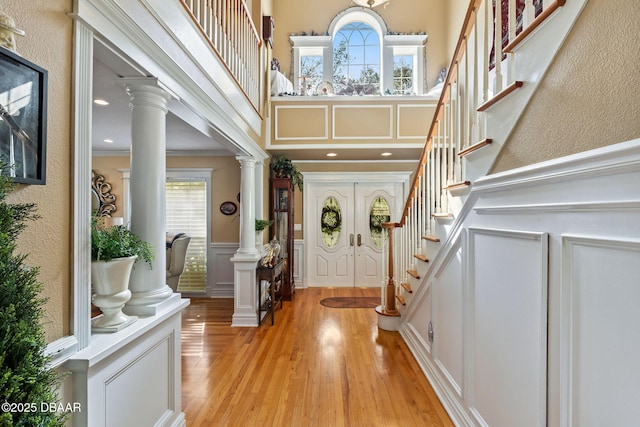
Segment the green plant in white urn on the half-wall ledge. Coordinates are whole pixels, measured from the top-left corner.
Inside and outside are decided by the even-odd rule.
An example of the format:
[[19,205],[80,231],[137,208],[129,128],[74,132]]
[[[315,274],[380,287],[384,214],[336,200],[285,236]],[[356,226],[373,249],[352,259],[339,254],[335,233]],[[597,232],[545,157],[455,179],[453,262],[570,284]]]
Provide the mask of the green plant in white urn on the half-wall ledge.
[[91,221],[91,284],[94,305],[103,315],[92,328],[117,331],[136,320],[122,312],[131,299],[129,277],[133,264],[142,259],[151,267],[153,248],[123,225],[103,227],[98,218]]

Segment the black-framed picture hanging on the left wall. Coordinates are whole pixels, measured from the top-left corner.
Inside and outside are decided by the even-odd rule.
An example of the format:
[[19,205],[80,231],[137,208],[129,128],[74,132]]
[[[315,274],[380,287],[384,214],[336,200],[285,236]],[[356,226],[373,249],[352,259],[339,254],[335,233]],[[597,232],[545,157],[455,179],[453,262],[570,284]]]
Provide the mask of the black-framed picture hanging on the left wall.
[[47,70],[0,47],[0,173],[12,181],[46,184],[47,83]]

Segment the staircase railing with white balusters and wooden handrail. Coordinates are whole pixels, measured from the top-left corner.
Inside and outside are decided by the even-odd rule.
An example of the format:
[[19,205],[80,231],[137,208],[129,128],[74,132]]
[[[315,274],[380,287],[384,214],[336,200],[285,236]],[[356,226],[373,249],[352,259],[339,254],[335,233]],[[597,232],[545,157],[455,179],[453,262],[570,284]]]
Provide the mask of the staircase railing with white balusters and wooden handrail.
[[415,263],[427,261],[428,242],[440,241],[436,221],[453,217],[452,192],[470,185],[466,156],[492,142],[483,112],[522,86],[514,78],[514,48],[564,4],[471,1],[404,211],[397,223],[385,225],[389,250],[382,307],[387,314],[397,313],[400,289],[410,288],[409,275],[417,276]]

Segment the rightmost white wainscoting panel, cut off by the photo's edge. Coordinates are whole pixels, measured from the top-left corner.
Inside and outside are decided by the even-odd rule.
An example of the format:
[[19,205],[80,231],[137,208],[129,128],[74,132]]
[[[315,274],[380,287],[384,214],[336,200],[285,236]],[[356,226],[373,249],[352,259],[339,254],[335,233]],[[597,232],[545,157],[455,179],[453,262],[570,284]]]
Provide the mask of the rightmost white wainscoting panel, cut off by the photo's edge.
[[640,240],[562,237],[562,425],[640,425]]

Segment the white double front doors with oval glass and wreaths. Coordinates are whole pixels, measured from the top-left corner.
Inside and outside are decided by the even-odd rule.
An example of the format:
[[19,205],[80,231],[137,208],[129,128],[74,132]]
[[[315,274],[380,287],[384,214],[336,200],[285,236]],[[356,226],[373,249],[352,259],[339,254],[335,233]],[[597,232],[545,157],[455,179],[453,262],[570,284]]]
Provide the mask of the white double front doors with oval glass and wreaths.
[[379,176],[372,182],[314,182],[305,176],[308,286],[380,286],[379,223],[399,218],[405,186],[404,180],[381,182]]

